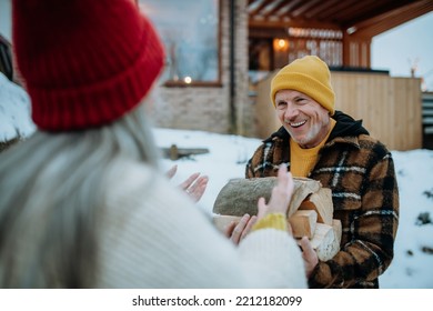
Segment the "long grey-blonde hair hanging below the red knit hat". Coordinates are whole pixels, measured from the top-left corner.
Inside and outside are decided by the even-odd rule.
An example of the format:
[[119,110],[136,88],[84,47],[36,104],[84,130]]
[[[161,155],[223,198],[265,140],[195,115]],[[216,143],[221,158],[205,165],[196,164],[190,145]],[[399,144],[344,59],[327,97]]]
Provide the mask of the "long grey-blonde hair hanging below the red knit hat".
[[121,159],[158,167],[142,108],[98,129],[37,131],[0,154],[1,288],[92,287],[95,211]]

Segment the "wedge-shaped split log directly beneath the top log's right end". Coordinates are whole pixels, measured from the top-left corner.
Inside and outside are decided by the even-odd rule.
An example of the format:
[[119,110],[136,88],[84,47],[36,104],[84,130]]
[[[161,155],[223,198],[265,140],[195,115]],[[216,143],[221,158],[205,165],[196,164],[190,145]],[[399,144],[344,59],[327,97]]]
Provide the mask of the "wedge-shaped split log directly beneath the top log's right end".
[[318,212],[318,222],[332,225],[334,207],[332,203],[332,191],[329,188],[321,188],[311,193],[300,205],[300,210],[314,210]]

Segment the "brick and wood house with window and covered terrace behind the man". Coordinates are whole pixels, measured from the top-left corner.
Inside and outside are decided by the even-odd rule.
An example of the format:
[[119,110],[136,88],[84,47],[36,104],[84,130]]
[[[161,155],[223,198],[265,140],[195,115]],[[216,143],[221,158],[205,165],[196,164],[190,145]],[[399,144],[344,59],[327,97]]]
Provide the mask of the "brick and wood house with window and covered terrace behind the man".
[[[10,1],[1,2],[3,24]],[[274,127],[270,78],[316,54],[332,68],[338,109],[363,119],[390,149],[422,147],[420,79],[371,70],[370,46],[433,11],[433,0],[133,1],[157,29],[168,26],[159,29],[167,69],[149,99],[154,126],[262,138]]]

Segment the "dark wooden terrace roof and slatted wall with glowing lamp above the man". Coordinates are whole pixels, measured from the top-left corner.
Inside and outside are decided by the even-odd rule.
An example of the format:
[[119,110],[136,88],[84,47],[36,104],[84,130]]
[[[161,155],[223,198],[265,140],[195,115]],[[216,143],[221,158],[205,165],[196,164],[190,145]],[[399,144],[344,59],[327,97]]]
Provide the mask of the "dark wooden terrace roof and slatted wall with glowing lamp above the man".
[[331,67],[370,69],[372,38],[433,10],[432,0],[249,0],[250,61],[273,70],[316,54]]

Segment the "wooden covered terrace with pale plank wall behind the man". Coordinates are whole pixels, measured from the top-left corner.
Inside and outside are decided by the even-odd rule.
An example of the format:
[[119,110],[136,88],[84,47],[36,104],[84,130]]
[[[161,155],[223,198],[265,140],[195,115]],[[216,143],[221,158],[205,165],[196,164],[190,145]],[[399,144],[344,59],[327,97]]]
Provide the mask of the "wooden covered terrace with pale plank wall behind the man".
[[331,68],[336,109],[362,119],[390,149],[422,148],[421,79],[372,70],[371,42],[432,10],[431,0],[249,0],[249,69],[270,72],[252,88],[253,136],[264,138],[280,127],[269,103],[274,71],[315,54]]

